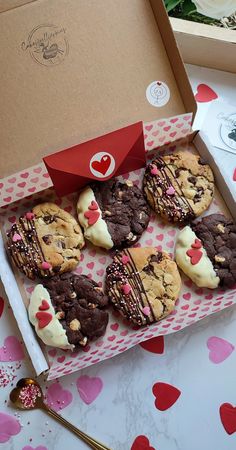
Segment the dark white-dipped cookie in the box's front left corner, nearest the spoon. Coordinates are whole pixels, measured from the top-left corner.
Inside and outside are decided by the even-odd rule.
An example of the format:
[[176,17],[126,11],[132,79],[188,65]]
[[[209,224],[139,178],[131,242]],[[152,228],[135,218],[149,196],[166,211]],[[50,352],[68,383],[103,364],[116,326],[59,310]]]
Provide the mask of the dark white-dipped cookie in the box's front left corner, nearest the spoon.
[[42,341],[75,350],[105,333],[108,298],[84,275],[56,275],[38,284],[30,299],[29,319]]

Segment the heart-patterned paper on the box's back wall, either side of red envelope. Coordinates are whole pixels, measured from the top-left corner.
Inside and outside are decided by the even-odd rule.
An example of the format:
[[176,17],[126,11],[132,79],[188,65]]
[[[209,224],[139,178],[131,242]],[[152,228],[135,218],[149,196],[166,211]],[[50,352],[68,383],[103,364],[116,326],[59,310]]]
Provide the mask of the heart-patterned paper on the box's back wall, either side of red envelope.
[[[143,124],[145,150],[167,145],[186,137],[191,131],[192,114],[182,114],[169,119],[155,120]],[[0,207],[23,199],[52,186],[44,163],[37,164],[0,179]]]

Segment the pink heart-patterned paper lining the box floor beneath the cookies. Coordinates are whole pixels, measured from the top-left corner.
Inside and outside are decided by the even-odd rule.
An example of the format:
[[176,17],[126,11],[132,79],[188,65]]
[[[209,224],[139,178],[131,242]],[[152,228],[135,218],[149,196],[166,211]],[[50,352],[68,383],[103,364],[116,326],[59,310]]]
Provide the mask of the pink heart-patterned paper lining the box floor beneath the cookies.
[[[170,149],[174,150],[175,146],[170,147]],[[191,150],[190,146],[189,149]],[[151,152],[150,157],[153,156],[154,153]],[[133,181],[139,187],[142,186],[142,178],[143,169],[120,177],[121,180]],[[3,210],[5,211],[3,216],[5,230],[7,231],[11,227],[19,215],[30,210],[34,204],[42,201],[55,201],[57,205],[75,216],[77,194],[59,199],[55,197],[54,191],[49,189],[43,196],[36,194],[33,198],[23,199],[14,204],[14,206],[9,205],[7,209]],[[213,200],[207,214],[219,211],[224,212],[224,210],[225,205],[219,196],[217,201],[216,199]],[[136,246],[155,246],[160,251],[165,250],[173,256],[177,233],[177,225],[164,224],[160,218],[152,214],[148,228]],[[87,244],[82,251],[81,263],[78,265],[75,273],[87,275],[102,286],[106,266],[111,260],[111,253]],[[235,289],[227,291],[220,288],[215,290],[202,289],[195,286],[183,274],[181,276],[182,289],[175,310],[160,322],[137,329],[137,327],[130,325],[124,320],[119,313],[110,309],[109,323],[105,335],[97,341],[89,343],[87,347],[78,353],[73,354],[70,351],[45,347],[50,366],[48,379],[55,379],[109,359],[147,339],[179,331],[236,302]],[[34,284],[22,275],[20,275],[20,278],[29,297]]]

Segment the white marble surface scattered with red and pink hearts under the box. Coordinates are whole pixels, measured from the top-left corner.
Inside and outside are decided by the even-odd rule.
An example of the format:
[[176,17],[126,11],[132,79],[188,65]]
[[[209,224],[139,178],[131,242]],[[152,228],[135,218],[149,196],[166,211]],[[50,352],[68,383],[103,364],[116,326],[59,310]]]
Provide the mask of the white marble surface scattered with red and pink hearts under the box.
[[[194,92],[207,83],[226,98],[235,94],[235,76],[193,66],[187,70]],[[206,106],[199,105],[199,123]],[[0,297],[0,442],[5,440],[0,450],[87,449],[44,413],[16,412],[8,403],[12,385],[33,369],[5,293],[0,291]],[[164,348],[157,338],[149,350],[138,345],[57,382],[47,383],[42,376],[39,381],[52,407],[112,450],[235,450],[236,433],[226,432],[219,414],[222,404],[231,404],[236,431],[235,330],[236,309],[230,307],[166,336]],[[15,340],[6,341],[9,336]],[[8,355],[11,342],[14,350]],[[21,424],[9,440],[6,430],[13,427],[3,425],[6,413]]]

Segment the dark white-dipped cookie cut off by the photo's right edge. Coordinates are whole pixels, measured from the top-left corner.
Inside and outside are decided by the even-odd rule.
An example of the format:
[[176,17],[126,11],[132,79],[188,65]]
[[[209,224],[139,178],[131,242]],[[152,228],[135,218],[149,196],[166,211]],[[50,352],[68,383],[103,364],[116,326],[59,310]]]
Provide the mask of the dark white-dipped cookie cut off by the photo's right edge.
[[197,286],[234,286],[236,225],[223,214],[211,214],[185,227],[177,238],[176,262]]

